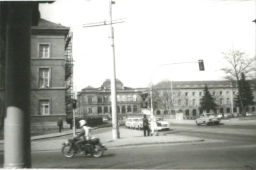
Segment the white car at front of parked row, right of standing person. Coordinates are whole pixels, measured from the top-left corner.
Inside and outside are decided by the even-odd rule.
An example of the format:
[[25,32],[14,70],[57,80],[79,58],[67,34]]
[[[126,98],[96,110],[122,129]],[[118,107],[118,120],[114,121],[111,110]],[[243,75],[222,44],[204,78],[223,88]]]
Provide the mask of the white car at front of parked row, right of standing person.
[[166,122],[161,117],[153,117],[153,126],[151,125],[151,118],[149,118],[149,128],[155,129],[155,130],[169,130],[170,124],[169,122]]

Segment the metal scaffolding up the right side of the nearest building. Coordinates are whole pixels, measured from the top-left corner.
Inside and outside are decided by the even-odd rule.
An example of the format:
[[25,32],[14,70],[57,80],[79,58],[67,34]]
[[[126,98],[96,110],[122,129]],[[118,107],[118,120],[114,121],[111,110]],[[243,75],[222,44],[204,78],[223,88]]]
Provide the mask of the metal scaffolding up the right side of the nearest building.
[[65,104],[67,118],[72,118],[73,114],[73,55],[72,55],[73,32],[69,31],[65,39]]

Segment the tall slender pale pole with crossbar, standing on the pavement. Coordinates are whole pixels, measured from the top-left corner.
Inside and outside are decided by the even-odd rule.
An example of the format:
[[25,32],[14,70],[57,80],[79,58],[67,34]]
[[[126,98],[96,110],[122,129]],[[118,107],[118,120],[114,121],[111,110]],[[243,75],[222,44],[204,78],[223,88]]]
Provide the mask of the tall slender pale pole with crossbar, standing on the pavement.
[[109,15],[110,15],[110,27],[111,27],[111,46],[113,49],[113,58],[112,58],[112,76],[111,76],[111,106],[112,106],[112,133],[113,139],[119,139],[119,127],[117,121],[117,90],[115,83],[115,42],[114,42],[114,29],[112,27],[112,4],[115,4],[115,1],[109,1]]

